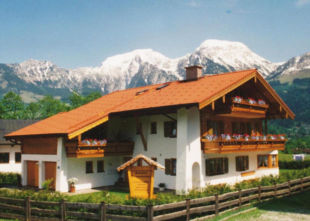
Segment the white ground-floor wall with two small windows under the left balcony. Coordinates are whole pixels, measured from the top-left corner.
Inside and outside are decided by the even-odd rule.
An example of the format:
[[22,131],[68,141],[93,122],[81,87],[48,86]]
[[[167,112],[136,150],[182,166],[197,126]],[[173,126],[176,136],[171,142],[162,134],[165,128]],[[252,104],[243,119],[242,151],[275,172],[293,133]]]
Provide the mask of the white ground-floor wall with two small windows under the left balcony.
[[[104,172],[97,173],[97,161],[104,161]],[[93,173],[86,174],[86,161],[93,161]],[[90,189],[95,187],[114,185],[119,175],[116,170],[122,165],[122,157],[87,157],[68,158],[68,179],[75,177],[78,179],[76,190]],[[68,182],[67,182],[68,183]]]

